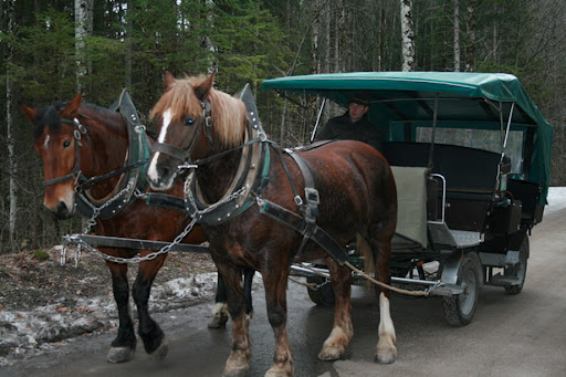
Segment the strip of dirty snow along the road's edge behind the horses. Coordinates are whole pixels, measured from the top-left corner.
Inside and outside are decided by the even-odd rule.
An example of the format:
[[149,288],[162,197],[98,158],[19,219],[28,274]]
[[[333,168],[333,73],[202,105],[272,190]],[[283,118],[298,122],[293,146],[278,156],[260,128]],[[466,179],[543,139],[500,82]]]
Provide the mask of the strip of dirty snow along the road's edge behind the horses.
[[[217,273],[193,274],[151,287],[151,313],[167,312],[211,300]],[[135,305],[132,304],[135,308]],[[136,315],[135,310],[133,311]],[[30,311],[0,311],[0,367],[53,349],[65,339],[86,333],[116,329],[116,303],[112,296],[61,299],[60,303]]]

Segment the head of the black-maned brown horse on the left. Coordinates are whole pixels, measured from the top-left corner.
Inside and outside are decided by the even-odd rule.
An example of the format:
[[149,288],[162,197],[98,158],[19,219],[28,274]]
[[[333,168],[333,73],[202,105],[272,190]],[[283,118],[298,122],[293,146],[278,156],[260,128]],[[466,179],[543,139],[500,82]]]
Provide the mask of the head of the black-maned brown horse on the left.
[[21,105],[27,119],[35,126],[33,148],[43,160],[45,195],[43,205],[60,219],[74,212],[74,193],[80,175],[81,132],[78,116],[82,95],[66,105],[55,104],[40,111]]

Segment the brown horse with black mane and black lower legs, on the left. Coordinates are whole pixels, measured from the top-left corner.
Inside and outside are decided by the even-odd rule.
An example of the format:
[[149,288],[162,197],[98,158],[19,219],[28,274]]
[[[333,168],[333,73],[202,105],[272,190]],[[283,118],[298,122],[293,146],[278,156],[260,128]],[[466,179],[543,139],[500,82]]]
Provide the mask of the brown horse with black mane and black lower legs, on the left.
[[[55,104],[40,111],[21,106],[23,114],[35,126],[34,149],[43,160],[46,179],[43,203],[60,219],[73,216],[75,207],[78,206],[77,190],[85,187],[84,182],[81,184],[83,179],[102,177],[113,171],[119,172],[126,164],[126,155],[133,154],[133,150],[128,150],[133,143],[128,137],[128,126],[132,127],[128,121],[115,111],[81,104],[81,95],[77,95],[66,105]],[[145,133],[137,137],[145,137]],[[91,188],[83,190],[83,197],[98,208],[105,208],[107,212],[103,216],[104,211],[101,211],[101,217],[95,219],[96,233],[171,242],[187,224],[182,208],[175,210],[148,206],[145,200],[139,200],[136,196],[132,196],[132,200],[126,206],[119,203],[118,207],[104,207],[105,203],[111,203],[113,198],[120,199],[115,200],[116,203],[122,202],[117,188],[124,186],[126,175],[126,171],[115,176],[109,174],[106,179],[97,180]],[[140,180],[145,184],[145,179]],[[182,184],[175,185],[167,193],[182,197]],[[84,201],[83,206],[85,206]],[[182,242],[201,243],[206,238],[197,226]],[[126,259],[138,252],[117,248],[101,248],[101,250],[108,255]],[[140,256],[149,252],[148,250],[139,251]],[[159,325],[148,313],[148,300],[151,283],[165,260],[166,254],[159,254],[153,260],[142,261],[132,289],[139,317],[138,334],[146,352],[159,358],[166,356],[167,344]],[[106,264],[112,275],[119,318],[118,334],[112,342],[107,359],[111,363],[122,363],[132,358],[136,347],[136,335],[128,304],[129,285],[126,275],[128,265],[108,260]],[[251,290],[249,286],[251,276],[247,276],[247,291]],[[224,295],[223,284],[219,280],[217,302],[224,302]],[[221,307],[222,304],[218,306]],[[251,311],[250,299],[248,312],[251,313]],[[221,327],[227,321],[228,315],[218,311],[211,322],[213,325],[210,326]]]

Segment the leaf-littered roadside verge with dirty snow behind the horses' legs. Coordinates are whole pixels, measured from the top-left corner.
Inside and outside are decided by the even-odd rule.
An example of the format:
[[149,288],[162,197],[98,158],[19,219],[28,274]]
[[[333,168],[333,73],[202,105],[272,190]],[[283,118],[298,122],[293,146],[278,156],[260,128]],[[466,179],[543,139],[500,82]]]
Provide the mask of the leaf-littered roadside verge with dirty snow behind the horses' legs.
[[[84,252],[75,266],[75,252],[69,250],[61,265],[60,248],[46,255],[44,260],[30,251],[1,255],[0,367],[46,352],[66,338],[117,328],[104,261]],[[214,272],[209,254],[170,252],[151,287],[150,312],[212,301]],[[136,273],[137,264],[132,264],[130,285]]]

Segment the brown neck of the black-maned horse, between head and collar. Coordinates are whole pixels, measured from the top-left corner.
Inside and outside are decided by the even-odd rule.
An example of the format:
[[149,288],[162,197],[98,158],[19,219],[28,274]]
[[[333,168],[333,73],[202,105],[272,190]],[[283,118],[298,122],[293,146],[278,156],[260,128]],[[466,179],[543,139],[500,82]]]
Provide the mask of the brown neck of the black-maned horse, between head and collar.
[[[81,170],[87,178],[102,176],[124,167],[128,149],[125,122],[120,118],[98,118],[92,112],[85,114],[83,126],[87,137],[83,137],[81,150]],[[86,148],[85,148],[86,147]],[[105,196],[117,185],[118,177],[109,178],[95,185],[92,193]]]

